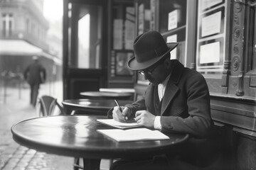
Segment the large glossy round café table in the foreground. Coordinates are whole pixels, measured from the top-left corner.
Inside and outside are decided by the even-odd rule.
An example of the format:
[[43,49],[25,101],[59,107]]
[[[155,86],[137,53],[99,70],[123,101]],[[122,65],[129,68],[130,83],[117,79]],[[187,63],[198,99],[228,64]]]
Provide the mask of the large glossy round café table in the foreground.
[[117,142],[97,130],[112,127],[97,122],[106,116],[58,115],[31,118],[11,127],[18,144],[50,154],[82,157],[84,169],[100,169],[100,159],[149,157],[174,152],[188,140],[185,134],[166,134],[169,140]]

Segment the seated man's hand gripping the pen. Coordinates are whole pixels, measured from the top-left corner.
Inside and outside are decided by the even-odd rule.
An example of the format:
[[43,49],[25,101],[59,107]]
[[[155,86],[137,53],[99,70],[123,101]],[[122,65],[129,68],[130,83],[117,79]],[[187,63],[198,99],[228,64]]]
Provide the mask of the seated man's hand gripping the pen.
[[122,108],[122,112],[119,110],[119,108],[117,106],[114,106],[114,109],[112,111],[113,113],[113,118],[114,120],[117,120],[119,122],[126,122],[126,120],[128,120],[132,113],[131,111],[129,110],[129,108],[127,107],[121,107]]

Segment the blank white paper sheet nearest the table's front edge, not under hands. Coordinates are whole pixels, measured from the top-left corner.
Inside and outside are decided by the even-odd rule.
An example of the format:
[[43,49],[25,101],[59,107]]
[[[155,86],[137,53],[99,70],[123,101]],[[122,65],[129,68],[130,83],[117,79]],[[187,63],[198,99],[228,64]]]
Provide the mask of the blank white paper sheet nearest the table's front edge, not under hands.
[[141,140],[169,140],[169,137],[164,135],[159,130],[149,130],[147,128],[134,128],[129,130],[111,129],[97,130],[103,135],[111,137],[118,142],[141,141]]

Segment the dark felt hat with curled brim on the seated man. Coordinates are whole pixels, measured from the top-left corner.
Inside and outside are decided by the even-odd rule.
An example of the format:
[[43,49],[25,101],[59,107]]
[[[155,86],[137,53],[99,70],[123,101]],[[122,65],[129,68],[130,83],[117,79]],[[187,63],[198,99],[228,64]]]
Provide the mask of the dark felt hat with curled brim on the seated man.
[[151,30],[146,33],[142,33],[134,40],[134,54],[128,62],[129,69],[142,70],[162,59],[166,58],[166,54],[177,47],[177,42],[166,43],[162,35]]

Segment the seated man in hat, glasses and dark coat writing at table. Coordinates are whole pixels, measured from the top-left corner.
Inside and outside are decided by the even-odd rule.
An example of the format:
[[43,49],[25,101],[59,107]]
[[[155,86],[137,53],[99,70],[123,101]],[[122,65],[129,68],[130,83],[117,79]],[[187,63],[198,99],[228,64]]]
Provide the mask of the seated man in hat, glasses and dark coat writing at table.
[[[207,139],[213,127],[208,86],[200,73],[183,67],[178,60],[170,60],[170,52],[177,45],[166,43],[156,31],[143,33],[134,40],[135,57],[129,60],[128,66],[143,74],[150,84],[144,98],[124,106],[122,113],[114,107],[112,116],[120,122],[135,118],[139,125],[161,132],[187,133],[191,138]],[[186,152],[180,151],[177,157],[203,166],[201,157],[194,156],[200,146],[196,148],[188,142],[186,148],[191,147]],[[164,155],[120,160],[114,162],[112,169],[179,169],[178,166],[174,159]]]

